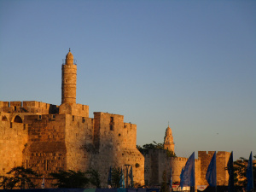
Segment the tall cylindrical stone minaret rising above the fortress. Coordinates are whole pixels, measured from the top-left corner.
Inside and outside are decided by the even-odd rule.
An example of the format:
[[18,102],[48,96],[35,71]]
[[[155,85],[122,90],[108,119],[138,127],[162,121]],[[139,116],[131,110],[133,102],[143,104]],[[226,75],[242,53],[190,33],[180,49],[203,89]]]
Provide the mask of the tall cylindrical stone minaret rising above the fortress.
[[77,65],[73,63],[73,55],[66,55],[65,64],[62,64],[61,104],[76,103],[77,92]]

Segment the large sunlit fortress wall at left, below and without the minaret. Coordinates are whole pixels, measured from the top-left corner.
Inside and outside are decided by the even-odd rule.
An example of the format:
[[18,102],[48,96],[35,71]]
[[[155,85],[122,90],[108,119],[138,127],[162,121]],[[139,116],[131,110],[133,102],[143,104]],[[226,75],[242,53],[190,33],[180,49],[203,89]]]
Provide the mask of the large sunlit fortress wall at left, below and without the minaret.
[[[97,112],[91,119],[86,112],[84,117],[79,116],[80,111],[73,115],[75,110],[52,114],[51,105],[42,102],[23,102],[29,108],[21,108],[22,102],[10,103],[0,102],[0,153],[1,159],[5,157],[0,175],[14,166],[32,167],[43,175],[60,169],[85,172],[94,168],[103,171],[102,181],[107,181],[110,166],[129,164],[134,180],[143,183],[144,158],[136,148],[137,126],[124,123],[123,115]],[[65,106],[60,108],[64,111]]]

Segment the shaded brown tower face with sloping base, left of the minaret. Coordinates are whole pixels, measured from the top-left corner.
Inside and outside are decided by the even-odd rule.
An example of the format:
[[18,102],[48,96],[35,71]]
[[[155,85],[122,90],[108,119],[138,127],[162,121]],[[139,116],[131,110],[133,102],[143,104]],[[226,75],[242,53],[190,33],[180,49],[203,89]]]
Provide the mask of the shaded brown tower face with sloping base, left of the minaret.
[[24,166],[43,175],[59,169],[65,170],[65,115],[29,115],[25,117],[25,122],[28,124],[29,137],[24,150]]

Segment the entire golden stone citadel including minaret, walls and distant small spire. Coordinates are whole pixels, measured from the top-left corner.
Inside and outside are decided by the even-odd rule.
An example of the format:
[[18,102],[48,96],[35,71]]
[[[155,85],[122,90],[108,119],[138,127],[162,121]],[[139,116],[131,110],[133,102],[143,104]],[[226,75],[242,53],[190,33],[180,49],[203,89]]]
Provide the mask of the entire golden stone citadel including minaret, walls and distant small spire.
[[[62,64],[61,105],[44,102],[0,102],[0,175],[15,166],[25,166],[47,176],[58,170],[101,173],[102,187],[107,187],[110,166],[133,166],[134,182],[155,185],[162,173],[179,182],[179,174],[188,159],[169,157],[166,150],[137,150],[137,125],[124,122],[124,116],[94,112],[76,103],[77,65],[73,54]],[[172,130],[168,126],[164,147],[174,152]],[[214,152],[198,152],[195,160],[195,184],[207,184],[205,175]],[[230,153],[218,152],[218,184],[228,183],[224,170]],[[167,179],[169,179],[167,177]],[[45,183],[46,188],[52,187]]]

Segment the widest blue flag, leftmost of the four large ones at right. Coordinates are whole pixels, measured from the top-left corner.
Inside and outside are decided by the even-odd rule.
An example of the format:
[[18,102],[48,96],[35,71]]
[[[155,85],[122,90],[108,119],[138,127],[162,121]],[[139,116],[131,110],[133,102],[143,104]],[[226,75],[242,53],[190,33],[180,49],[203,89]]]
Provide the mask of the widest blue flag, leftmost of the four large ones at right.
[[180,174],[180,187],[195,186],[195,152],[190,155],[185,167]]

